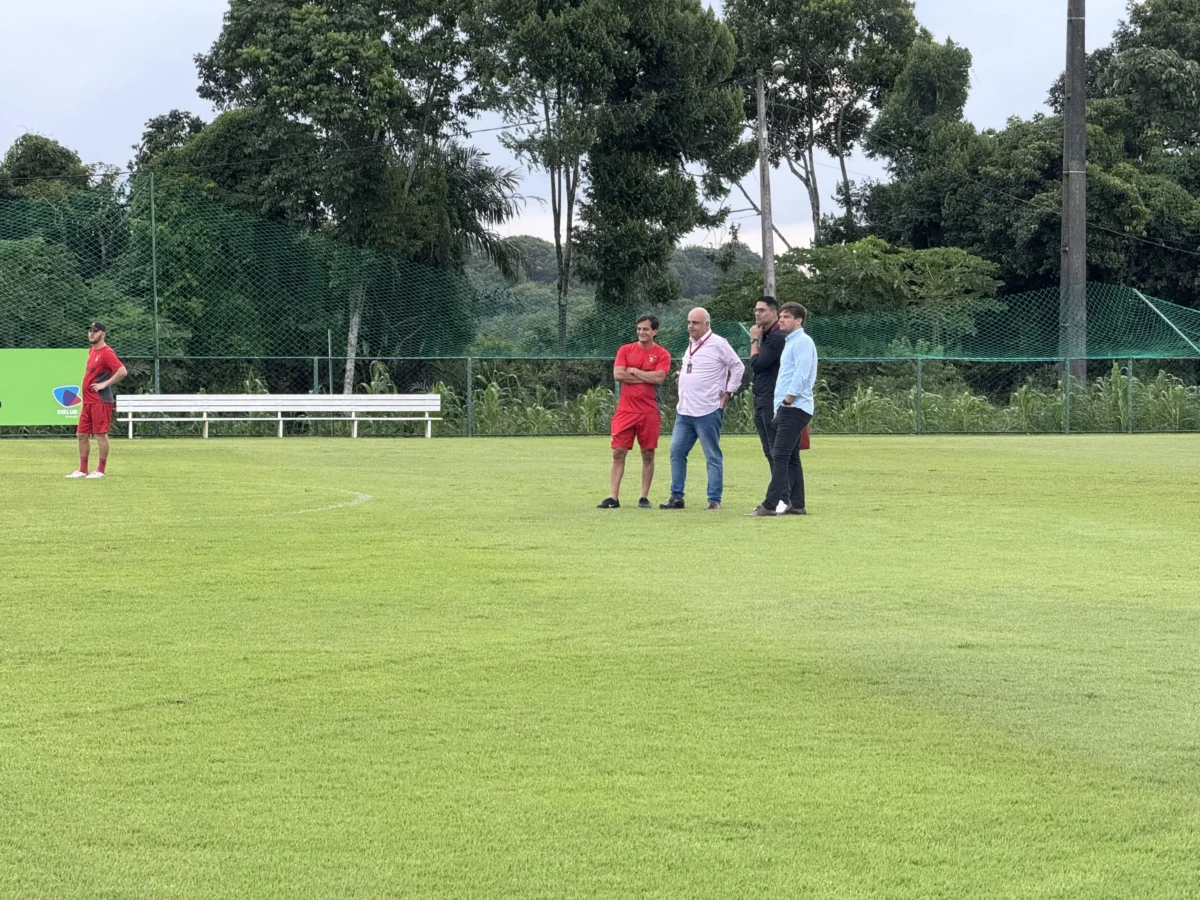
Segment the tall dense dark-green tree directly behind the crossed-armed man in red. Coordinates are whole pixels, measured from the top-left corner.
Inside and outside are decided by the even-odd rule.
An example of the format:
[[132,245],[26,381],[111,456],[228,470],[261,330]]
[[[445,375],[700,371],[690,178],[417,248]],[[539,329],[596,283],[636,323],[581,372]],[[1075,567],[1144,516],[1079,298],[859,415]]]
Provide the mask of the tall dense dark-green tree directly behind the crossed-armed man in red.
[[625,2],[630,68],[584,164],[578,242],[598,302],[644,306],[679,296],[671,254],[688,233],[725,221],[727,208],[706,203],[745,176],[754,144],[743,140],[728,29],[698,0]]

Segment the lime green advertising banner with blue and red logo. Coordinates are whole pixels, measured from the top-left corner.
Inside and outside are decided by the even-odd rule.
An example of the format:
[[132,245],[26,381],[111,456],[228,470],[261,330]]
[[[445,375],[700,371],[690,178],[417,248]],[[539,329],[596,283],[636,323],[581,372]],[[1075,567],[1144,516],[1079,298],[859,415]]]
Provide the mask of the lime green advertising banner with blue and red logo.
[[0,350],[0,425],[79,424],[88,350]]

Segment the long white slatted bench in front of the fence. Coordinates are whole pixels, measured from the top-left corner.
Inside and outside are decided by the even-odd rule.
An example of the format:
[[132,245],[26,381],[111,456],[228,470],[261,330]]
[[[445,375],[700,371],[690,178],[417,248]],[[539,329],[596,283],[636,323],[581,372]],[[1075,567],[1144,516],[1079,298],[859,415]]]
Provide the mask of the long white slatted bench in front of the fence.
[[[349,421],[350,436],[359,422],[424,421],[425,437],[433,437],[433,422],[442,416],[438,394],[121,394],[116,397],[118,421],[200,422],[204,437],[210,422]],[[264,416],[265,414],[270,414]],[[257,414],[257,415],[256,415]],[[287,415],[286,415],[287,414]],[[124,415],[124,418],[122,418]]]

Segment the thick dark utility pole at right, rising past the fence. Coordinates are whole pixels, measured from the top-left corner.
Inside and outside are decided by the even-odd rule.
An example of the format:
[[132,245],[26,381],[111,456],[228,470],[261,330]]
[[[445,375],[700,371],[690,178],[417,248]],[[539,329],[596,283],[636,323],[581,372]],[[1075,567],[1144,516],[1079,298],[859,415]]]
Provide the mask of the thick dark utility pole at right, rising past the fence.
[[1087,44],[1086,0],[1067,5],[1067,97],[1063,104],[1062,287],[1058,352],[1063,374],[1087,378]]

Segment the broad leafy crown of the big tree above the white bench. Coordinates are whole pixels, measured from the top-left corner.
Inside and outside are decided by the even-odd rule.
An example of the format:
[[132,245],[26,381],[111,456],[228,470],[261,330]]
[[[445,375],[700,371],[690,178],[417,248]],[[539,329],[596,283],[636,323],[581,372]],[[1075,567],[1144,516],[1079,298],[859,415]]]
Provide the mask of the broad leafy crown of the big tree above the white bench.
[[478,86],[458,26],[463,2],[233,0],[210,53],[198,56],[200,96],[259,110],[264,139],[300,126],[317,150],[322,202],[338,238],[408,252],[397,206],[445,162]]

